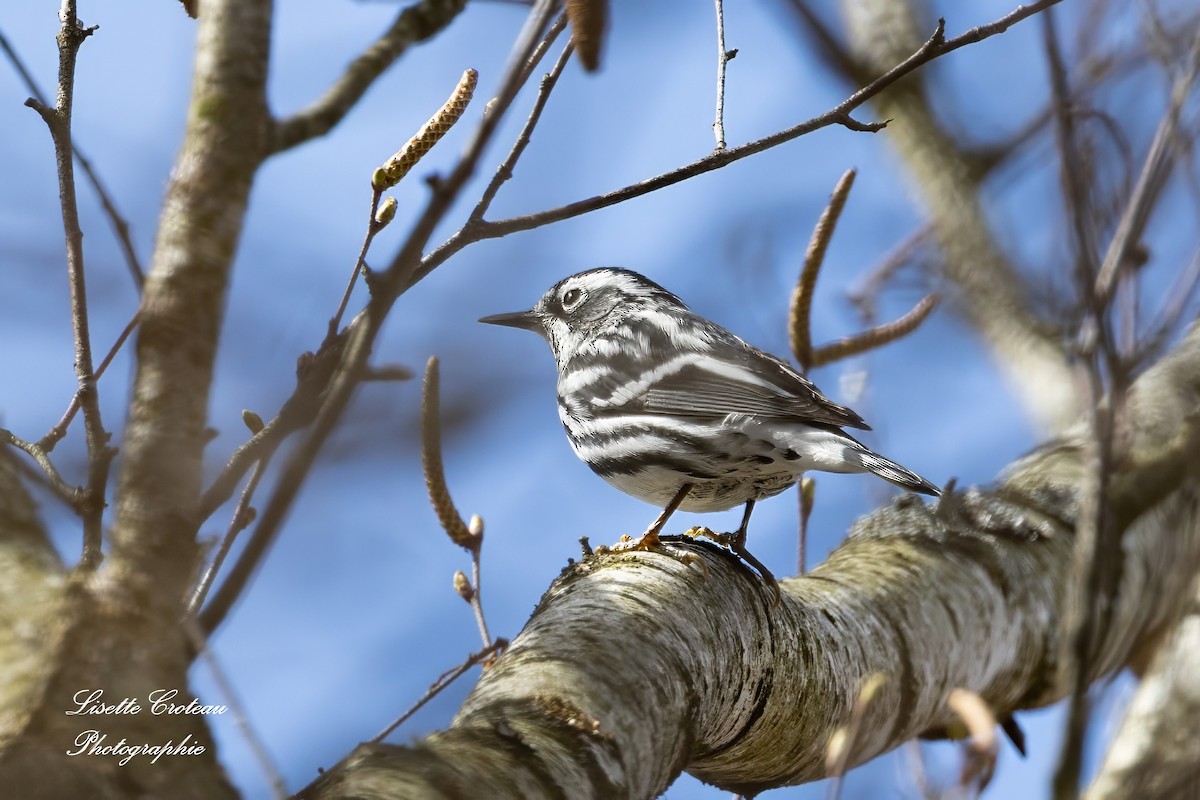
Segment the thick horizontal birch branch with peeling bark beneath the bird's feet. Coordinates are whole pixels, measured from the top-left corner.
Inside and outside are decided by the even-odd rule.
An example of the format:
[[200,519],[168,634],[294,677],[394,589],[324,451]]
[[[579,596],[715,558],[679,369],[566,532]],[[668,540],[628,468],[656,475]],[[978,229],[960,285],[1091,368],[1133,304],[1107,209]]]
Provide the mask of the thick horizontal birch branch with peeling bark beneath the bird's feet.
[[[1129,397],[1112,487],[1116,591],[1088,674],[1170,625],[1200,561],[1200,325]],[[566,569],[454,724],[364,745],[301,796],[652,798],[683,770],[752,795],[824,775],[830,735],[874,673],[851,763],[942,729],[956,687],[1003,716],[1068,692],[1057,663],[1082,475],[1081,427],[994,491],[865,517],[784,601],[732,557],[704,569],[602,554]],[[707,572],[707,576],[706,576]]]

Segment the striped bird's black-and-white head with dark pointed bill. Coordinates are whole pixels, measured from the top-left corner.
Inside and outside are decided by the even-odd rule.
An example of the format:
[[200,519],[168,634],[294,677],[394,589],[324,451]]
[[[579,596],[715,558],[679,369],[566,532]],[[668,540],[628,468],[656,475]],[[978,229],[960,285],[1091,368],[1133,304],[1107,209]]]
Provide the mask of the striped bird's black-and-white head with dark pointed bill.
[[479,321],[541,333],[563,363],[578,345],[648,309],[686,309],[678,297],[631,270],[605,266],[552,285],[529,311]]

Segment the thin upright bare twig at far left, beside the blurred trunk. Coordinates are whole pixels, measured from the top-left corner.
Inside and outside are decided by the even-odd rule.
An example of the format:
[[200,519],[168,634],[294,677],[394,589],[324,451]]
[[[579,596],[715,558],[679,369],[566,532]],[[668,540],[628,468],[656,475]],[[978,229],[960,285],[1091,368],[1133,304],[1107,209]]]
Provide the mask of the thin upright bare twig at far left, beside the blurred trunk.
[[78,397],[88,441],[88,482],[78,506],[83,517],[83,555],[79,566],[94,570],[103,559],[101,551],[104,493],[108,469],[115,451],[108,446],[109,434],[100,414],[96,375],[91,363],[91,335],[88,331],[88,289],[83,266],[83,230],[79,228],[79,207],[76,201],[74,158],[71,149],[71,112],[74,102],[76,56],[83,42],[95,32],[84,28],[76,14],[76,0],[62,0],[59,11],[59,91],[54,108],[35,98],[25,104],[36,110],[50,130],[54,156],[59,172],[59,201],[62,206],[62,228],[67,246],[67,281],[71,287],[71,329],[74,333],[74,368],[79,384]]

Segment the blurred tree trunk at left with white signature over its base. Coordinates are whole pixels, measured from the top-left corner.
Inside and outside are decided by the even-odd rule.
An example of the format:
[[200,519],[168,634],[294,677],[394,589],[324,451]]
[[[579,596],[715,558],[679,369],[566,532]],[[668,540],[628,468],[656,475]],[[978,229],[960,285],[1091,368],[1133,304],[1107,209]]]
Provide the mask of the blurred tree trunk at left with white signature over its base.
[[[23,685],[5,687],[18,696],[4,698],[0,786],[19,788],[22,798],[234,796],[204,718],[152,714],[148,698],[176,688],[176,703],[191,699],[191,651],[179,616],[196,570],[206,409],[229,272],[266,154],[270,19],[270,0],[204,4],[187,136],[144,287],[107,563],[65,575],[46,553],[30,555],[28,524],[0,521],[2,549],[25,546],[24,563],[0,567],[12,573],[6,591],[20,595],[0,604],[7,613],[11,601],[11,613],[29,614],[8,638],[40,660]],[[68,714],[100,687],[103,703],[137,698],[142,711]],[[157,763],[137,757],[125,766],[113,757],[68,757],[88,730],[104,736],[102,746],[186,740],[204,750]]]

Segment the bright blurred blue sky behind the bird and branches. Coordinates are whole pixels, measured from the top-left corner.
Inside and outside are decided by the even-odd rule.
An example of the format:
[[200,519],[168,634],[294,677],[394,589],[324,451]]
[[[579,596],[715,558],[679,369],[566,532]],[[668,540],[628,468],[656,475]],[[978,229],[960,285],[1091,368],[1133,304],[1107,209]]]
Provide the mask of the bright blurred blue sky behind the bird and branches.
[[[491,216],[559,205],[653,176],[713,148],[715,40],[712,4],[616,2],[605,67],[596,76],[570,65]],[[739,144],[836,104],[846,86],[829,73],[772,4],[727,4],[726,138]],[[1072,4],[1066,4],[1070,6]],[[377,2],[277,4],[270,103],[289,113],[310,102],[391,20]],[[949,34],[1013,8],[997,0],[936,2]],[[1066,19],[1069,20],[1069,8]],[[133,225],[149,260],[157,206],[179,146],[191,80],[193,23],[172,2],[84,0],[80,18],[100,30],[79,59],[74,132]],[[221,359],[210,404],[220,431],[209,446],[215,474],[246,437],[241,410],[272,415],[287,397],[295,356],[313,349],[358,252],[372,169],[437,109],[461,72],[480,73],[469,121],[496,89],[523,20],[520,6],[478,2],[432,43],[415,48],[371,90],[331,136],[269,162],[256,181],[228,299]],[[8,4],[0,26],[43,88],[53,85],[56,4]],[[1114,32],[1114,36],[1120,34]],[[556,49],[557,52],[557,49]],[[968,47],[936,65],[940,91],[956,103],[956,124],[978,142],[1002,139],[1046,97],[1037,23]],[[73,390],[66,275],[62,267],[53,151],[41,120],[7,65],[0,67],[0,420],[36,438],[59,417]],[[522,95],[482,174],[434,235],[461,223],[491,169],[506,152],[532,102]],[[1153,97],[1130,97],[1130,115]],[[870,110],[860,114],[871,119]],[[899,121],[898,124],[902,124]],[[1135,127],[1136,137],[1147,136]],[[456,128],[395,191],[396,222],[368,260],[383,263],[422,206],[420,180],[445,170],[466,140]],[[818,285],[816,337],[858,330],[845,291],[922,219],[919,200],[888,150],[887,133],[821,131],[716,173],[632,203],[548,228],[475,245],[397,303],[376,354],[379,362],[420,369],[442,359],[448,426],[445,463],[460,509],[487,525],[484,593],[494,634],[514,636],[576,540],[593,543],[638,533],[655,510],[595,477],[571,453],[554,409],[554,369],[536,337],[478,325],[485,314],[530,306],[553,282],[598,265],[623,265],[662,283],[755,344],[785,355],[787,297],[808,236],[828,193],[847,168],[859,170]],[[988,206],[1003,246],[1033,272],[1052,272],[1063,245],[1046,192],[1052,173],[1013,172],[989,188]],[[137,307],[137,295],[94,196],[80,188],[89,299],[97,348],[107,349]],[[1170,221],[1156,223],[1169,224]],[[1164,245],[1168,247],[1168,245]],[[1152,285],[1162,283],[1156,277]],[[901,277],[881,301],[899,315],[928,283]],[[361,302],[361,295],[356,302]],[[354,306],[352,305],[352,308]],[[865,374],[865,393],[847,386]],[[102,381],[106,421],[118,432],[131,362],[122,354]],[[916,335],[866,357],[812,374],[833,398],[875,427],[866,441],[936,483],[955,476],[985,483],[1036,444],[1036,433],[973,335],[944,307]],[[468,558],[442,533],[425,499],[416,450],[420,387],[373,384],[359,391],[257,582],[214,649],[290,790],[372,738],[444,669],[479,646],[469,608],[451,589]],[[119,433],[118,433],[119,438]],[[56,451],[64,471],[83,474],[79,431]],[[76,477],[76,480],[79,480]],[[810,561],[844,536],[890,488],[869,476],[818,476]],[[64,552],[76,553],[78,527],[53,500],[42,503]],[[229,509],[205,533],[216,535]],[[796,560],[793,494],[763,503],[750,543],[776,575]],[[725,516],[680,515],[732,528]],[[474,674],[474,673],[473,673]],[[472,674],[472,675],[473,675]],[[390,741],[444,727],[469,690],[464,679],[433,700]],[[194,688],[221,702],[203,667]],[[1118,681],[1109,705],[1128,686]],[[1112,699],[1115,698],[1115,699]],[[1001,756],[992,796],[1048,796],[1061,715],[1022,715],[1031,756]],[[266,796],[264,780],[232,720],[215,734],[223,763],[247,798]],[[1110,722],[1098,722],[1103,734]],[[926,746],[954,772],[948,746]],[[901,762],[888,754],[856,771],[844,796],[878,796],[898,784]],[[895,794],[912,793],[887,789]],[[823,796],[821,784],[764,796]],[[726,796],[680,778],[677,800]]]

